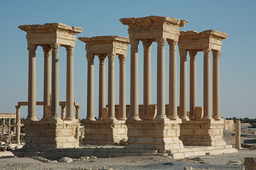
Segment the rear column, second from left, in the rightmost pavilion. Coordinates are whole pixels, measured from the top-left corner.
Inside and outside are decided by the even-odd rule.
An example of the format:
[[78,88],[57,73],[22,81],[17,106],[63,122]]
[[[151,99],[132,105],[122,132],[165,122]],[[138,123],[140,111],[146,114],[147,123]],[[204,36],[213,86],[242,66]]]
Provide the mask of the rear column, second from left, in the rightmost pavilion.
[[196,94],[196,51],[189,51],[190,56],[190,89],[189,89],[189,119],[194,120],[194,109],[197,104]]

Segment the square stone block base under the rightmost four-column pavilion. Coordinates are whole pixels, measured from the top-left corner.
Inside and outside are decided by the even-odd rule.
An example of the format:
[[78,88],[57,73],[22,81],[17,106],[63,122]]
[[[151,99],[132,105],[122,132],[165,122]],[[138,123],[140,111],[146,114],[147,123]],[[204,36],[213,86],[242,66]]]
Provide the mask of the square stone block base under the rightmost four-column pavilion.
[[180,140],[184,146],[222,146],[224,120],[190,120],[180,124]]

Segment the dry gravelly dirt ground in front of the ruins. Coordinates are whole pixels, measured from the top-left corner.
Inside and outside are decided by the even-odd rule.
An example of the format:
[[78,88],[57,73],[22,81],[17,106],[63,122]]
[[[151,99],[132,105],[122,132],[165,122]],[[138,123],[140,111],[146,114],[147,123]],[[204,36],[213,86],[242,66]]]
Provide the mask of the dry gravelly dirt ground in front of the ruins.
[[[242,127],[241,143],[256,143],[256,136],[250,132],[256,129]],[[233,131],[224,130],[227,144],[235,144]],[[92,160],[79,160],[65,163],[43,163],[32,158],[6,158],[0,159],[0,170],[184,170],[192,167],[194,170],[242,170],[244,157],[256,157],[256,150],[242,149],[238,153],[206,155],[175,160],[171,157],[144,156],[101,158]],[[227,165],[229,160],[241,161],[242,165]]]

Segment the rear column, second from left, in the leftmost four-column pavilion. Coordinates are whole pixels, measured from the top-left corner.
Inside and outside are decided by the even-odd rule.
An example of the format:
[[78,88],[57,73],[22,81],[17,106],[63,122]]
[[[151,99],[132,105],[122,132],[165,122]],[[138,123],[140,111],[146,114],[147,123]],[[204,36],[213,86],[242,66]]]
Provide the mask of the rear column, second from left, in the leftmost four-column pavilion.
[[43,73],[43,119],[45,120],[45,106],[50,106],[51,94],[51,47],[43,47],[44,73]]

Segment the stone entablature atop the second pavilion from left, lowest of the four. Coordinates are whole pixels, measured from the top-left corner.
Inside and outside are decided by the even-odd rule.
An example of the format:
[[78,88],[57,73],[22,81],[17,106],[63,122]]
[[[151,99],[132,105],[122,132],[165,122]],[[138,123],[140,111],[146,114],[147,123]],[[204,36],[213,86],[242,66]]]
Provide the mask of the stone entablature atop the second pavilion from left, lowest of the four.
[[86,46],[87,54],[96,56],[115,53],[116,55],[126,55],[129,39],[121,36],[97,36],[97,37],[78,37]]

